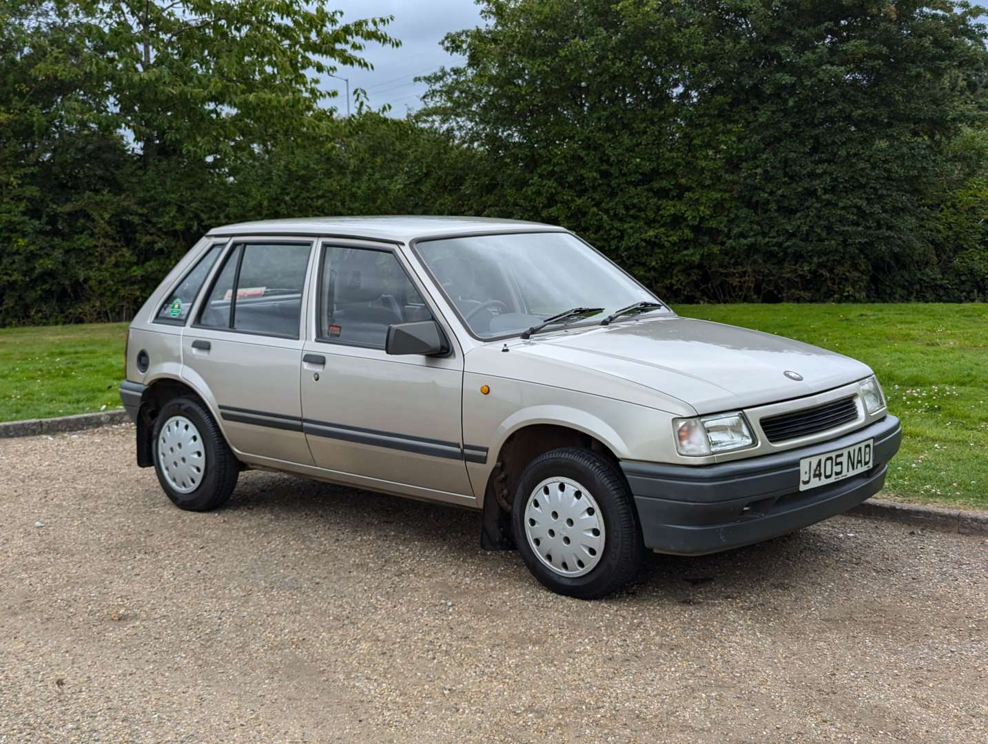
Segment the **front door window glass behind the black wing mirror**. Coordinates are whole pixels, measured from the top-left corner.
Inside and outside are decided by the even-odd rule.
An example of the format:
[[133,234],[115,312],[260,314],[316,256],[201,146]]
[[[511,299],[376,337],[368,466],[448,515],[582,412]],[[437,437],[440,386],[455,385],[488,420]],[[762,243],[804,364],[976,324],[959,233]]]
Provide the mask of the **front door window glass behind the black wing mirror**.
[[325,248],[319,277],[319,341],[383,349],[389,325],[432,319],[390,251]]

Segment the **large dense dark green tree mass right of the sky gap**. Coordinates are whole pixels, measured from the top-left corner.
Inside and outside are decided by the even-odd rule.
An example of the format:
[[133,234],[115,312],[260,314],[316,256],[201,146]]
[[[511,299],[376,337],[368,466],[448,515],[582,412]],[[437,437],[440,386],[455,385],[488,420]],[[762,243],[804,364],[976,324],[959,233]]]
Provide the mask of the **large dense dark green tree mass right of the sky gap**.
[[980,11],[943,0],[488,0],[426,112],[495,210],[693,299],[933,297],[924,225],[984,122]]

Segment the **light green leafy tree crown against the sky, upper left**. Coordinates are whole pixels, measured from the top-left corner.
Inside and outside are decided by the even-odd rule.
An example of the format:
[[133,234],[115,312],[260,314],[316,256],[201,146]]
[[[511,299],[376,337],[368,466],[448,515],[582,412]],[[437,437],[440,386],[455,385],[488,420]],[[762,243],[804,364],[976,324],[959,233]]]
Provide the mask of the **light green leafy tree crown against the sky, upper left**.
[[320,86],[336,65],[370,67],[367,42],[398,45],[389,18],[344,23],[301,0],[53,0],[85,32],[87,87],[140,144],[145,165],[173,153],[225,158],[286,133],[319,131]]

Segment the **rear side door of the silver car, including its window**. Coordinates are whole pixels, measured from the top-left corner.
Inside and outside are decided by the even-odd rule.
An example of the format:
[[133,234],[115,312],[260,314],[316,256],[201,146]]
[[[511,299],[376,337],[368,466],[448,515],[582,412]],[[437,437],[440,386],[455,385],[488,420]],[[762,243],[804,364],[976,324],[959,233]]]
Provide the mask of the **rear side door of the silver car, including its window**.
[[298,381],[311,253],[311,240],[233,239],[183,335],[183,376],[240,453],[312,463]]

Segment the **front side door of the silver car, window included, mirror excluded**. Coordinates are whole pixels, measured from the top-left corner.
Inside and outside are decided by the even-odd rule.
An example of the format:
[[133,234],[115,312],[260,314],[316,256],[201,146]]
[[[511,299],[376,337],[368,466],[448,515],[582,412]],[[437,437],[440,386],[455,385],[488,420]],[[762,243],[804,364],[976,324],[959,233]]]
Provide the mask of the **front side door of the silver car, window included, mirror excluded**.
[[[389,356],[391,324],[433,309],[391,247],[323,242],[311,290],[302,412],[318,466],[472,501],[461,440],[462,354]],[[407,491],[406,489],[406,492]],[[444,494],[446,495],[444,497]]]

